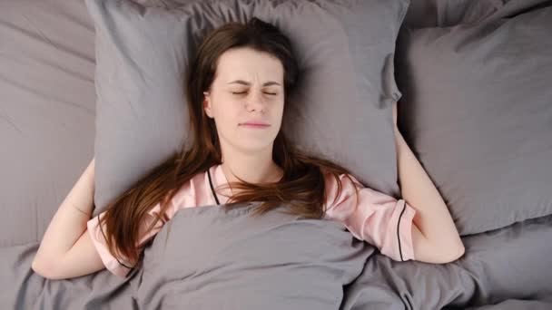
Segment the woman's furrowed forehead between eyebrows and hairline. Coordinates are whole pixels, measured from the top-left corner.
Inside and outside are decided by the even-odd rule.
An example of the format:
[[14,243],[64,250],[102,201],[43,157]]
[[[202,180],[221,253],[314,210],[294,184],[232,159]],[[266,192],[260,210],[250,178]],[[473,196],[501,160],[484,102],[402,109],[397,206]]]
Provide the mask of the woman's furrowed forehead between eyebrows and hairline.
[[216,75],[222,80],[283,80],[283,66],[270,53],[251,48],[232,48],[219,57]]

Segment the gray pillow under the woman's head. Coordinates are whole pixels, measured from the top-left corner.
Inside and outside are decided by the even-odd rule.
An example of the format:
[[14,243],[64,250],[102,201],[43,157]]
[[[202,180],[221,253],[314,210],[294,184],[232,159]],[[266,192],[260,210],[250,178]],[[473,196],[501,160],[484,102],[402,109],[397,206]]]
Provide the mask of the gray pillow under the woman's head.
[[409,1],[206,1],[173,9],[86,0],[96,30],[94,215],[185,145],[185,68],[208,30],[252,16],[281,27],[302,71],[282,121],[301,150],[397,195],[393,55]]

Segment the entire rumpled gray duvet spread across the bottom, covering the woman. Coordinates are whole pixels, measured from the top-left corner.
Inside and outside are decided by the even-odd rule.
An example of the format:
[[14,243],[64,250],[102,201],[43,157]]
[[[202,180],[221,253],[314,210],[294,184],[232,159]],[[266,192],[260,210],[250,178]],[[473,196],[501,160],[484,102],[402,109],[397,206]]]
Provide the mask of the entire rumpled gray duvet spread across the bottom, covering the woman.
[[0,248],[2,309],[550,309],[552,217],[464,237],[446,265],[396,262],[340,223],[255,204],[184,208],[122,279],[47,280],[37,243]]

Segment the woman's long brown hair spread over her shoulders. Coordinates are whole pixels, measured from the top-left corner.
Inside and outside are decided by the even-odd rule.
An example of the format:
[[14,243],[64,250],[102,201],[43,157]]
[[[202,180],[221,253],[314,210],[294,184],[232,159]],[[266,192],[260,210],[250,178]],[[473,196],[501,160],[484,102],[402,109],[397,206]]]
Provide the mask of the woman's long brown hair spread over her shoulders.
[[[212,31],[200,45],[187,73],[186,99],[192,146],[189,150],[182,147],[108,204],[101,220],[105,224],[104,235],[109,236],[106,237],[106,243],[113,257],[127,257],[131,262],[140,259],[141,248],[136,245],[140,239],[140,223],[148,217],[148,211],[161,203],[160,215],[146,231],[152,229],[159,220],[163,223],[169,220],[165,214],[170,206],[168,202],[182,185],[197,173],[222,163],[221,146],[214,121],[203,110],[203,92],[211,87],[221,54],[235,47],[251,47],[256,51],[271,53],[281,61],[286,98],[284,111],[285,106],[290,104],[288,94],[293,92],[293,87],[297,84],[299,68],[292,53],[291,42],[277,27],[253,17],[245,24],[224,24]],[[272,158],[283,170],[282,179],[276,183],[261,184],[232,182],[232,189],[242,190],[233,195],[223,208],[238,208],[247,206],[242,202],[260,201],[261,204],[252,212],[253,216],[273,208],[286,207],[289,210],[284,212],[302,218],[323,218],[323,205],[327,199],[325,174],[330,173],[337,180],[337,199],[341,192],[339,176],[347,174],[346,177],[349,178],[350,171],[330,160],[295,150],[282,131],[277,134],[273,145]],[[225,187],[228,186],[227,184]]]

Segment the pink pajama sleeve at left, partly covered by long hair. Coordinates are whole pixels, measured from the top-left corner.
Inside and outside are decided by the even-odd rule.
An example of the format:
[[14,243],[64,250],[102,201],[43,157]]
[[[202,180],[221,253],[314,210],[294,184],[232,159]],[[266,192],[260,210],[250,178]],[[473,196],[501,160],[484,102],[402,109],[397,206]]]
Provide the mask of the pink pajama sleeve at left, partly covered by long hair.
[[[155,220],[154,213],[159,214],[159,211],[161,210],[161,204],[157,203],[154,208],[152,208],[148,212],[148,217],[145,218],[145,221],[143,225],[141,226],[141,232],[140,232],[140,241],[138,242],[138,247],[143,247],[143,245],[149,241],[151,238],[155,236],[163,228],[163,222],[158,221],[157,224],[155,224],[155,227],[147,234],[144,234],[145,228],[148,228],[150,225],[152,225],[153,220]],[[172,218],[174,211],[168,211],[166,213],[169,218]],[[107,244],[105,242],[105,225],[102,226],[102,230],[98,226],[98,217],[104,218],[105,211],[100,213],[98,216],[91,218],[86,223],[86,227],[88,228],[88,232],[90,234],[90,237],[92,238],[92,242],[94,244],[94,247],[98,251],[98,254],[102,258],[102,261],[104,262],[104,266],[113,273],[115,276],[125,277],[128,275],[129,271],[132,269],[133,264],[129,263],[125,257],[119,257],[117,258],[113,257],[113,255],[109,252],[107,248]],[[121,264],[123,263],[123,264]]]

